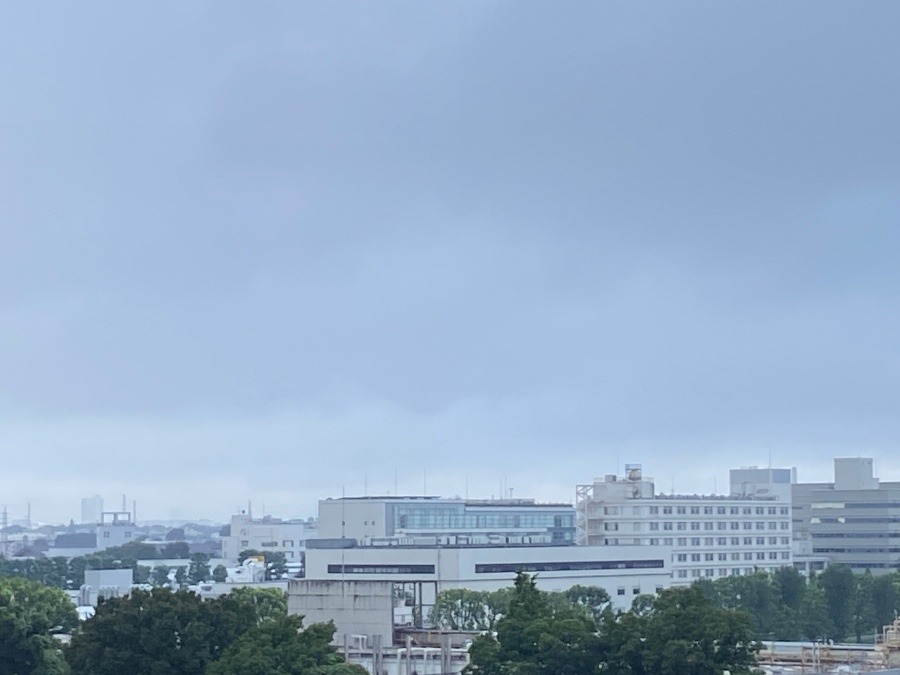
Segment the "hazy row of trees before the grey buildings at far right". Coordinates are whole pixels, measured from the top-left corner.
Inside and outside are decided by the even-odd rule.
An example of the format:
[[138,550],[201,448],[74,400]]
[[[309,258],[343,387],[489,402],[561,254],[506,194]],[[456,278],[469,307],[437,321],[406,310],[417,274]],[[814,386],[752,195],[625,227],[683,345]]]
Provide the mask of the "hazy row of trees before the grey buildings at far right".
[[807,580],[792,567],[699,581],[726,609],[747,612],[760,639],[871,642],[900,611],[900,575],[831,565]]

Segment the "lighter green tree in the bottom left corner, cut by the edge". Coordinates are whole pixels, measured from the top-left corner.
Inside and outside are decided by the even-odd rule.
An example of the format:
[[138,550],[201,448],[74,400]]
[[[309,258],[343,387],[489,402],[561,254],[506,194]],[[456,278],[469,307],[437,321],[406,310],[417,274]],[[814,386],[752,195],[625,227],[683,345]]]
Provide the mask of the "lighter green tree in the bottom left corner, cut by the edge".
[[23,578],[0,579],[0,675],[64,675],[68,666],[52,633],[78,622],[58,588]]

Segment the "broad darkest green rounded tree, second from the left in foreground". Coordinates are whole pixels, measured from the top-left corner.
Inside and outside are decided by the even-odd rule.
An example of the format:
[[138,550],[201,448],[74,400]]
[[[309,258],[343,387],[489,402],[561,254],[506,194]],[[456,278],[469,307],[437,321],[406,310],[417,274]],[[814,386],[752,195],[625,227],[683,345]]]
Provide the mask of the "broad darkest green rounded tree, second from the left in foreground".
[[228,596],[134,590],[97,605],[66,659],[75,675],[200,675],[256,623],[251,607]]

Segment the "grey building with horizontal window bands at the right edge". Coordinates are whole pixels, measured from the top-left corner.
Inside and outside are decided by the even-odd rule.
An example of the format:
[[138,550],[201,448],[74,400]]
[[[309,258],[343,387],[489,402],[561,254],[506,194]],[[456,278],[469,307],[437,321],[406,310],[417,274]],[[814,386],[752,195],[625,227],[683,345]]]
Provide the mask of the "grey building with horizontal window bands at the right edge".
[[900,565],[900,483],[880,482],[871,458],[835,459],[833,483],[796,484],[793,498],[813,555],[873,574]]

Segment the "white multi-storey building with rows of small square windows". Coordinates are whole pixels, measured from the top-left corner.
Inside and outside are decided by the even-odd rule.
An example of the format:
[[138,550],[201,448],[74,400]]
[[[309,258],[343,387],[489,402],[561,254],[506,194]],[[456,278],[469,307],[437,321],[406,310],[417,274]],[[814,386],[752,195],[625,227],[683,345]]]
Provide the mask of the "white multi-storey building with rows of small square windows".
[[753,467],[733,470],[728,496],[663,495],[626,465],[577,486],[578,543],[671,547],[674,584],[773,571],[793,564],[790,482],[789,469]]

